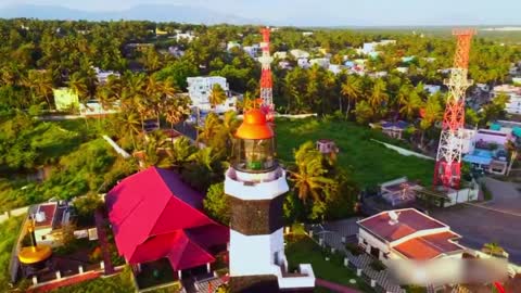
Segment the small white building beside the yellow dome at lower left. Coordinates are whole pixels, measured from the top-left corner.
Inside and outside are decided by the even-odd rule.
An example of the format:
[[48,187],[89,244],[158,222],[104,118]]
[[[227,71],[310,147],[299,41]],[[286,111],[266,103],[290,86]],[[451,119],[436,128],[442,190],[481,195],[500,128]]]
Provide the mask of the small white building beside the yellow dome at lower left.
[[62,228],[68,225],[71,219],[68,205],[60,205],[56,202],[38,204],[31,206],[29,216],[35,220],[36,244],[51,247],[62,244]]

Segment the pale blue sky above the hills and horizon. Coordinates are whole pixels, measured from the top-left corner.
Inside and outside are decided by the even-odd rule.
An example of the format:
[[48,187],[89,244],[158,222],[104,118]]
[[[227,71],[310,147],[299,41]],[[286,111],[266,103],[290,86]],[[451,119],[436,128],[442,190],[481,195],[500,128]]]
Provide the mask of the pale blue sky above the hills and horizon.
[[220,13],[287,25],[521,25],[520,0],[0,0],[1,4],[62,5],[88,11],[139,4],[204,7]]

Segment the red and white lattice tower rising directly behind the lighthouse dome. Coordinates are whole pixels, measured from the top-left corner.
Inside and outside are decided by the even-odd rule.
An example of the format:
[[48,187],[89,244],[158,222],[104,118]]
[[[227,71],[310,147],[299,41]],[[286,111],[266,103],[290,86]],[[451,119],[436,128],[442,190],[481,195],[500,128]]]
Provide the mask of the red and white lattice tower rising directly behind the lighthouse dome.
[[260,109],[266,113],[268,122],[274,119],[274,79],[271,77],[271,62],[274,59],[269,55],[269,28],[265,27],[260,29],[263,34],[263,42],[260,42],[260,49],[263,55],[258,58],[262,65],[260,73],[260,99],[263,104]]

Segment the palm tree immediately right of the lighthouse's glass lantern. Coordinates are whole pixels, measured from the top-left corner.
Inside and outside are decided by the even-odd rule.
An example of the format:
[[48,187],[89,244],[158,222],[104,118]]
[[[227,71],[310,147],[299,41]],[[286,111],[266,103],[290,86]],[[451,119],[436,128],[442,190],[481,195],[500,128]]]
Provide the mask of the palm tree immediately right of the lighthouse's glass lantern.
[[323,202],[323,194],[334,189],[335,182],[326,177],[328,170],[322,164],[322,155],[310,141],[302,144],[294,155],[295,166],[290,171],[290,180],[298,199],[306,202],[313,198],[315,202]]

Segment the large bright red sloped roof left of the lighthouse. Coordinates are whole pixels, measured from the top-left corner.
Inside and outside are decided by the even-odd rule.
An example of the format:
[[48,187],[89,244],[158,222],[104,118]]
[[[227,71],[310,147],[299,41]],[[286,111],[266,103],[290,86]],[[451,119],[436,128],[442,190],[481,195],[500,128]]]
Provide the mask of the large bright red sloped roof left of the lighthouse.
[[[219,241],[224,241],[219,244],[226,243],[228,229],[223,229],[199,209],[202,199],[200,193],[187,187],[176,173],[169,170],[151,167],[125,178],[106,195],[109,219],[119,254],[130,263],[144,263],[167,257],[177,250],[198,252],[192,247],[199,247],[196,243],[186,244],[191,247],[189,250],[181,245],[185,241],[181,234],[188,239],[186,231],[201,227],[205,227],[205,234],[218,234]],[[202,240],[205,238],[208,237]],[[208,260],[204,255],[181,254],[181,258]]]

